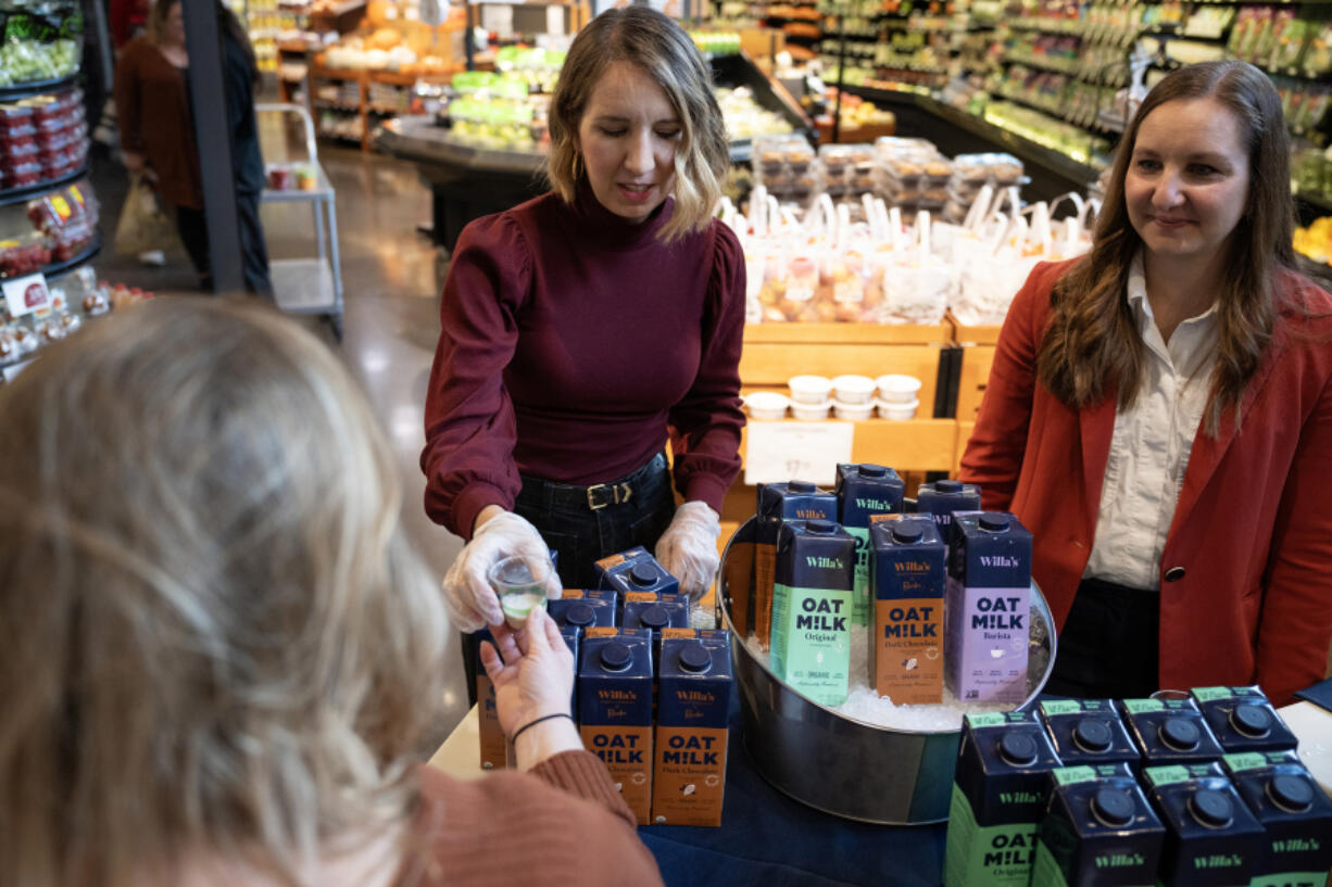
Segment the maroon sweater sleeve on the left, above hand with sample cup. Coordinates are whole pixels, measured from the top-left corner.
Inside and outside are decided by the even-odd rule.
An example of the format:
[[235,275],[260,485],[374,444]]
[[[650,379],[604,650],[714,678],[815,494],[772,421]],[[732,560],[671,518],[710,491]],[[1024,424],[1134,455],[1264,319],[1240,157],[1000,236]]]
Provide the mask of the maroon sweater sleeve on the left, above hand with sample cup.
[[521,489],[503,369],[530,278],[531,253],[507,216],[478,218],[462,230],[440,304],[421,470],[426,514],[465,539],[481,509],[511,509]]

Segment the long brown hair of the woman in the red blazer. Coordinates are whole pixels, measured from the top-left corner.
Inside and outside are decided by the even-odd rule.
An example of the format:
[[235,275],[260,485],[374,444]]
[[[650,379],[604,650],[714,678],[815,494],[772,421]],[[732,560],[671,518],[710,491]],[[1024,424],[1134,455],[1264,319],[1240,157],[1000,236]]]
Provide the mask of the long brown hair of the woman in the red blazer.
[[1051,321],[1036,372],[1040,382],[1074,409],[1100,401],[1112,389],[1119,392],[1120,408],[1138,396],[1144,346],[1126,285],[1143,240],[1128,220],[1124,177],[1147,115],[1168,101],[1188,99],[1212,99],[1225,107],[1239,124],[1249,158],[1248,204],[1229,238],[1217,304],[1216,368],[1203,422],[1215,437],[1225,409],[1239,409],[1272,338],[1276,276],[1295,266],[1291,149],[1281,99],[1267,75],[1243,61],[1181,68],[1143,100],[1115,156],[1091,253],[1051,293]]

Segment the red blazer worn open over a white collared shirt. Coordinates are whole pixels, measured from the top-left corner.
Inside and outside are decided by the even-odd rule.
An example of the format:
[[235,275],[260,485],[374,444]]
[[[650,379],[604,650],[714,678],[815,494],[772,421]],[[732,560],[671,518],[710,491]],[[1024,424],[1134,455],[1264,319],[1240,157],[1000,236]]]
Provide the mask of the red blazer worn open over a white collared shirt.
[[[962,479],[1035,537],[1032,573],[1063,626],[1095,538],[1116,393],[1084,410],[1036,382],[1050,290],[1078,260],[1040,264],[1014,298]],[[1283,313],[1236,432],[1201,430],[1162,554],[1160,686],[1259,683],[1276,705],[1323,679],[1332,639],[1332,296],[1284,272],[1311,314]],[[1175,581],[1167,581],[1166,573]]]

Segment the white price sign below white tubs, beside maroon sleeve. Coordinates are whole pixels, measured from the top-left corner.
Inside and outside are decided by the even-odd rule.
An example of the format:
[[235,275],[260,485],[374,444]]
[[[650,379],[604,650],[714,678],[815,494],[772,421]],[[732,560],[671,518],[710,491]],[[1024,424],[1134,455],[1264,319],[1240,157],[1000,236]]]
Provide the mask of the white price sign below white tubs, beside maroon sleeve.
[[852,422],[750,422],[745,482],[779,483],[798,478],[830,486],[836,463],[851,461]]

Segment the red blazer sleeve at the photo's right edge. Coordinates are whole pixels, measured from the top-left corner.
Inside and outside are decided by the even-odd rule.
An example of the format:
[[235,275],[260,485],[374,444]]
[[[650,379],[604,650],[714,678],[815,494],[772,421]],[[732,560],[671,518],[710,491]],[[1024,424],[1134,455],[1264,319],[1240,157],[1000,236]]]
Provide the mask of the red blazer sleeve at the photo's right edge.
[[[1328,349],[1325,344],[1319,348]],[[1332,361],[1329,361],[1332,362]],[[1323,679],[1332,639],[1332,378],[1324,376],[1281,493],[1257,631],[1257,682],[1281,706]]]

